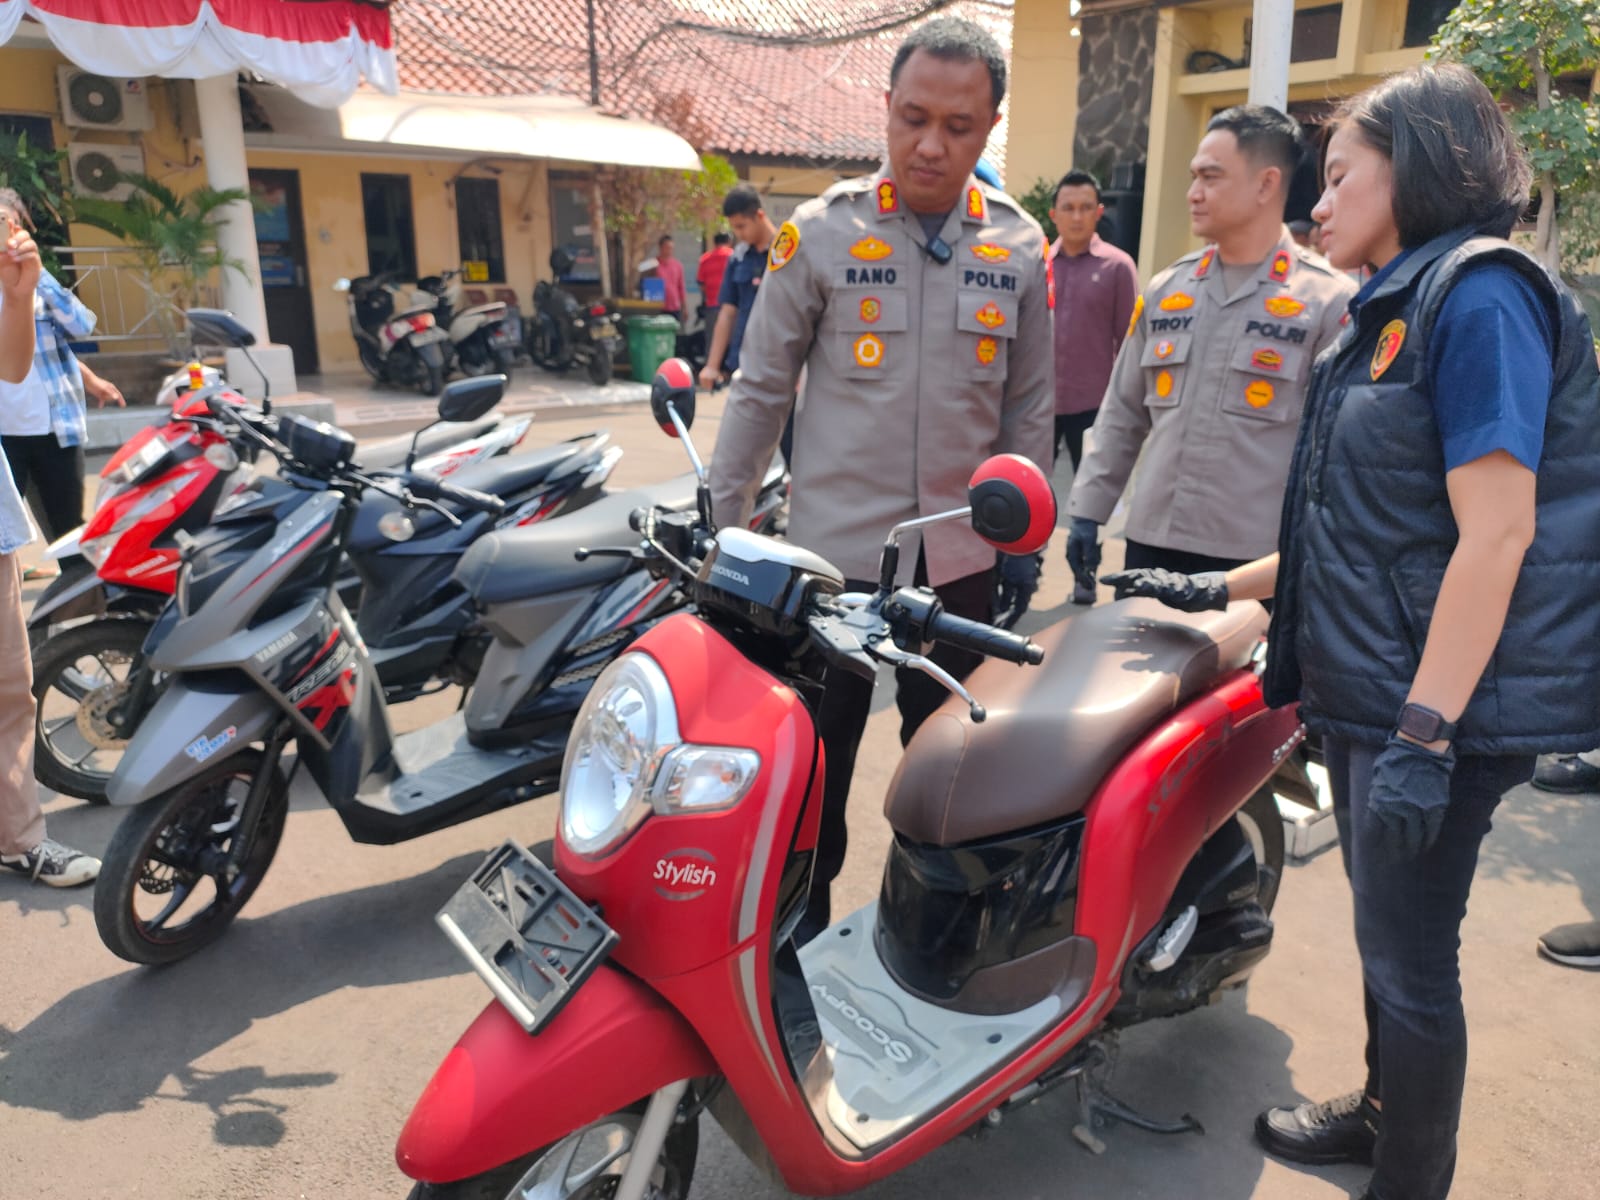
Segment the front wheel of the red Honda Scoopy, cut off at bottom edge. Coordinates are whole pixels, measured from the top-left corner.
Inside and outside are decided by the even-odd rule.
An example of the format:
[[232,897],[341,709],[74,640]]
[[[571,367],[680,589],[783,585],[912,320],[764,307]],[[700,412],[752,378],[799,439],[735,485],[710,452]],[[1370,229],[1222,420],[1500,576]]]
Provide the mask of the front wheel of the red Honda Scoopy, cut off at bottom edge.
[[[608,1200],[627,1170],[643,1106],[613,1112],[542,1150],[451,1184],[418,1184],[410,1200]],[[699,1157],[699,1120],[674,1125],[650,1173],[651,1200],[685,1200]]]

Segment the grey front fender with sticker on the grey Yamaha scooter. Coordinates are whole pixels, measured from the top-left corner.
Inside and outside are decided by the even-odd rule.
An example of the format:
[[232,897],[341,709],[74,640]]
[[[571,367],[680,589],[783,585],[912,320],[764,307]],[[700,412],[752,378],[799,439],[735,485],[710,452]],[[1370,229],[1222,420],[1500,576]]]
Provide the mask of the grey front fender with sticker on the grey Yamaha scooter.
[[218,757],[261,741],[282,715],[254,686],[200,691],[174,680],[139,722],[106,797],[126,806],[160,795],[192,779]]

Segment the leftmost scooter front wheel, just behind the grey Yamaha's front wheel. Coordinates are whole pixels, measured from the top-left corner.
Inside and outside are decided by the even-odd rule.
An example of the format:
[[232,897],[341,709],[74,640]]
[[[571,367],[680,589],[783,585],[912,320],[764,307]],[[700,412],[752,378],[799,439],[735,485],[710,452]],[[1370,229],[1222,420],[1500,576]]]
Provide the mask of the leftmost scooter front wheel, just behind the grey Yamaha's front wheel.
[[126,698],[149,632],[138,618],[91,621],[34,654],[34,774],[45,787],[106,803],[130,733],[110,723],[110,709]]

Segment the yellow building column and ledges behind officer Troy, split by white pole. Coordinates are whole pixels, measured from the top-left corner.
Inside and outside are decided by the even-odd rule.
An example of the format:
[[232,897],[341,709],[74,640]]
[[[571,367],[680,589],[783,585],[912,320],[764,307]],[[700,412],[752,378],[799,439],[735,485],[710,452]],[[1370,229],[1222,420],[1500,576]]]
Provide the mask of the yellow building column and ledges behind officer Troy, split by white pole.
[[[1309,8],[1322,0],[1298,0]],[[1331,59],[1290,66],[1290,102],[1338,101],[1371,86],[1397,70],[1422,61],[1421,48],[1400,46],[1406,0],[1344,0],[1339,46]],[[1192,50],[1216,50],[1230,58],[1243,53],[1243,22],[1250,8],[1237,3],[1163,8],[1155,37],[1155,80],[1150,93],[1150,144],[1144,182],[1144,237],[1139,274],[1149,278],[1181,254],[1198,246],[1189,232],[1184,192],[1189,158],[1205,123],[1221,109],[1242,104],[1250,70],[1189,75],[1184,59]]]

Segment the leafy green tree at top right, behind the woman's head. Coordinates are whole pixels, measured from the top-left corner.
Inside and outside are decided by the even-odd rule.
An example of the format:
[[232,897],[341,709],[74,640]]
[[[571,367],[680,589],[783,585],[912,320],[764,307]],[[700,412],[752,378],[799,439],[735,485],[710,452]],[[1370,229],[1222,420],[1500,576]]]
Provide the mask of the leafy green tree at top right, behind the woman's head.
[[1462,0],[1434,35],[1432,56],[1464,64],[1512,106],[1539,194],[1536,248],[1560,269],[1558,202],[1600,190],[1600,99],[1562,85],[1579,74],[1587,83],[1600,67],[1600,5]]

